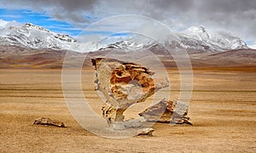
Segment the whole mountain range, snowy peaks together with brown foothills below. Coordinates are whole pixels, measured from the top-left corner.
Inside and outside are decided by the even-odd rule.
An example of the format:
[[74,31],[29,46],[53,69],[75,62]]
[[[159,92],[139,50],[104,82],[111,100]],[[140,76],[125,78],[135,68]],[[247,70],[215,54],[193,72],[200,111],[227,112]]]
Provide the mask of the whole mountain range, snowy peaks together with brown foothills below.
[[[172,55],[178,49],[186,49],[193,67],[256,67],[256,51],[248,48],[246,42],[230,33],[210,33],[203,26],[172,33],[165,42],[130,38],[98,46],[94,50],[84,48],[73,37],[30,23],[4,27],[0,29],[0,68],[61,68],[67,53],[71,54],[71,66],[84,54],[88,56],[84,66],[90,65],[90,57],[112,54],[133,56],[153,64],[154,59],[160,59],[167,67],[176,67]],[[183,59],[183,54],[178,58]]]

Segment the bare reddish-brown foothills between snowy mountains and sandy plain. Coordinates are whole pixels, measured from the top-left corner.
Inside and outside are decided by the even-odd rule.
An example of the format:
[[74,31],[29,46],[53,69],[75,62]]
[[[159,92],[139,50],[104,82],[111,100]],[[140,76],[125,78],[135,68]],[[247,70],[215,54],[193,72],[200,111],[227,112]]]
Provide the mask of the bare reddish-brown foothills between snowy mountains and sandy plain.
[[[142,52],[120,52],[120,50],[99,50],[88,54],[81,54],[67,50],[52,49],[32,49],[20,48],[17,46],[0,46],[0,68],[17,68],[17,69],[56,69],[61,68],[65,55],[68,54],[70,67],[75,67],[76,63],[84,60],[84,67],[90,65],[91,57],[104,57],[111,54],[111,57],[119,59],[121,56],[132,56],[139,60],[145,60],[154,65],[154,60],[160,61],[167,68],[176,68],[175,60],[171,54],[166,51],[155,50],[152,54],[147,54],[147,50]],[[164,54],[163,54],[164,53]],[[256,67],[256,50],[255,49],[237,49],[226,52],[207,52],[200,50],[189,50],[189,59],[193,68],[214,68],[214,67]],[[154,55],[155,57],[149,58]],[[81,58],[82,57],[82,58]],[[178,55],[183,59],[183,54]],[[129,58],[127,58],[129,59]],[[138,60],[138,61],[139,61]],[[81,62],[81,61],[80,61]],[[83,62],[83,61],[82,61]]]

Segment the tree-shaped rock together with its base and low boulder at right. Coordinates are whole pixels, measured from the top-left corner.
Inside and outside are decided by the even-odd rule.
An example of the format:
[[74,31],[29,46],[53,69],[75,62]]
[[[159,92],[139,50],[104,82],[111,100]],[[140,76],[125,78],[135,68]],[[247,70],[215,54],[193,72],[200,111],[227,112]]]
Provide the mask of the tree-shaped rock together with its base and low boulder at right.
[[96,69],[95,89],[104,94],[106,103],[102,106],[102,116],[115,130],[136,128],[136,135],[152,135],[154,129],[145,122],[188,123],[188,105],[162,99],[150,106],[136,119],[124,121],[123,113],[129,106],[145,101],[160,88],[169,86],[166,79],[154,79],[154,72],[143,65],[118,59],[91,59]]

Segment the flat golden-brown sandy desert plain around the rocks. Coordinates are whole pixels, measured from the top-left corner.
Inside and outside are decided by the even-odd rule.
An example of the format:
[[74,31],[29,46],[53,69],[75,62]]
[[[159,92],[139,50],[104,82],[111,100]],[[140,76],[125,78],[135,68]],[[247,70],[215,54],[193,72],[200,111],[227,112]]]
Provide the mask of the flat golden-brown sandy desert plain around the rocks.
[[[171,99],[177,99],[178,72],[168,74]],[[82,72],[83,90],[100,113],[93,75],[92,69]],[[255,78],[255,69],[194,70],[189,103],[192,126],[156,123],[152,137],[105,139],[86,131],[69,113],[61,70],[2,69],[0,152],[256,152]],[[126,116],[137,116],[139,111],[132,108]],[[65,122],[67,127],[32,125],[41,116]]]

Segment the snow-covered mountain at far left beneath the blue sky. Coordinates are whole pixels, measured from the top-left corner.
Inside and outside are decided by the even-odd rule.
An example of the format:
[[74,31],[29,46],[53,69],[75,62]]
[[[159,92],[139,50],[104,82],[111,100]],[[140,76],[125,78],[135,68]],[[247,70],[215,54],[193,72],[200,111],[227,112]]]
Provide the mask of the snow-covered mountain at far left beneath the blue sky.
[[0,29],[0,44],[67,50],[76,50],[79,47],[79,42],[73,37],[58,34],[30,23],[26,23],[24,26],[9,26]]

